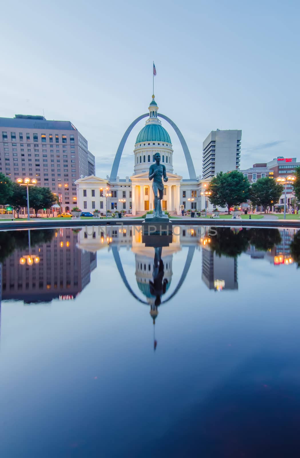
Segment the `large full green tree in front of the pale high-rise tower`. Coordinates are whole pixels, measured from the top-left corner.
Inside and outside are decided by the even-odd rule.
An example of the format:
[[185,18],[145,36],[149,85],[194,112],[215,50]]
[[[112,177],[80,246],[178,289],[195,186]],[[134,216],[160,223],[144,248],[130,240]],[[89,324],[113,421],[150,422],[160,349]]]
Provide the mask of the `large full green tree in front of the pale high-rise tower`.
[[209,202],[220,207],[230,207],[246,202],[249,198],[250,183],[238,170],[232,172],[219,172],[209,183],[211,192]]

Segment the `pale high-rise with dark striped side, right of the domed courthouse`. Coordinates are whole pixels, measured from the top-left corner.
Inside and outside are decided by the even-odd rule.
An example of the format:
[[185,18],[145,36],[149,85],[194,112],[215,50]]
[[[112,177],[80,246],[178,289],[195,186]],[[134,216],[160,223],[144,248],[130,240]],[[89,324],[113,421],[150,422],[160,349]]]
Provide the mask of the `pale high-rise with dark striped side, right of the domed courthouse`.
[[240,168],[241,131],[211,131],[203,142],[202,178]]

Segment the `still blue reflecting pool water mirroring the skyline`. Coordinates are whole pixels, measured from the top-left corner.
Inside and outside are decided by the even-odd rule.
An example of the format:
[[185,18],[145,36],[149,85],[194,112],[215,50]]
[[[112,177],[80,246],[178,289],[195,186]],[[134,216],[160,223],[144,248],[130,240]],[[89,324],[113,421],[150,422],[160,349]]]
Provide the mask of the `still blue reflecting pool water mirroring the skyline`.
[[0,232],[1,457],[299,457],[300,232],[173,231]]

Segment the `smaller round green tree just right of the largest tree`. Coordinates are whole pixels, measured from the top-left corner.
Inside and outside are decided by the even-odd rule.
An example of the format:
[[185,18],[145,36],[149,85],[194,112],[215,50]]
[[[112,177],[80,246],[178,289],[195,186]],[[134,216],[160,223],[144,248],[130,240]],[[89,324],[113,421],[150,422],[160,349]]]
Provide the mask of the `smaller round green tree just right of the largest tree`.
[[250,196],[254,205],[264,207],[266,213],[268,207],[279,201],[283,190],[284,186],[279,185],[274,179],[259,178],[256,183],[252,184]]

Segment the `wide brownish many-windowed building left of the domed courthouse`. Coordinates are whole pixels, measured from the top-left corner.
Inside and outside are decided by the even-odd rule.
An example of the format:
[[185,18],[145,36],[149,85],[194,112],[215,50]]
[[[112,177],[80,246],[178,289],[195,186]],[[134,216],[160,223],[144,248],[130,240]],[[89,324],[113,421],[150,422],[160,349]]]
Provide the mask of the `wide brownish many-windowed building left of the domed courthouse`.
[[70,121],[16,114],[0,118],[0,172],[13,181],[36,178],[38,186],[59,194],[66,211],[76,203],[74,182],[95,174],[95,157]]

